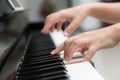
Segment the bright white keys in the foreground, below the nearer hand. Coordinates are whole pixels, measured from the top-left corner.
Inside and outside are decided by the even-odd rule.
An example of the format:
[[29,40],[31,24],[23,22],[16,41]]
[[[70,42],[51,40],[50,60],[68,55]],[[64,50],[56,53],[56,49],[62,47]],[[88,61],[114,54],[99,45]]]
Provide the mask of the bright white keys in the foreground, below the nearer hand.
[[89,62],[66,65],[70,80],[105,80]]

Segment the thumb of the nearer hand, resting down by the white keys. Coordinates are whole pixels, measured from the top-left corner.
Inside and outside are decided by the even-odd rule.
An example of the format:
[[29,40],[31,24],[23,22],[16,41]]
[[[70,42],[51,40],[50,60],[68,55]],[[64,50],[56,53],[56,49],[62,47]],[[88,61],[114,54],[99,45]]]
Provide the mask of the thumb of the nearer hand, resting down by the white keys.
[[91,46],[88,51],[87,54],[85,55],[83,61],[91,61],[93,55],[98,51],[96,46]]

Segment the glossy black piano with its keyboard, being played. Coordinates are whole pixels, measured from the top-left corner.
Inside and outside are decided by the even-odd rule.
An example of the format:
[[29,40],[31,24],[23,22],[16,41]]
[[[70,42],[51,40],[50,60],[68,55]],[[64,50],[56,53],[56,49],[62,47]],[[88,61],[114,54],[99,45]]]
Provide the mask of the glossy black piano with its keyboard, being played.
[[0,10],[0,80],[104,80],[90,62],[50,55],[67,38],[40,33],[44,23],[28,24],[18,0],[0,0]]

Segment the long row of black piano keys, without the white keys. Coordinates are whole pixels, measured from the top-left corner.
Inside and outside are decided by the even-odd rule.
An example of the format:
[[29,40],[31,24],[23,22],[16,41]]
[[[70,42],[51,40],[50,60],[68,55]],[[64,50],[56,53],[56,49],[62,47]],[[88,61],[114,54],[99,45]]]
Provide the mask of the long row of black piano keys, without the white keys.
[[15,80],[69,80],[62,58],[50,54],[55,48],[50,36],[38,31],[30,38]]

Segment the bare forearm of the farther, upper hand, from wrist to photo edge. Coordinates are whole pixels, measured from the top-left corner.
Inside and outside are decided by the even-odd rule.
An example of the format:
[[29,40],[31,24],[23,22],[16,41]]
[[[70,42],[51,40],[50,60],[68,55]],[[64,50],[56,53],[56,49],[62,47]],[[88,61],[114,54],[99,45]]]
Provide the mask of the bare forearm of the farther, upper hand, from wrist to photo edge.
[[88,4],[89,16],[100,19],[108,23],[120,22],[120,2],[119,3],[92,3]]

